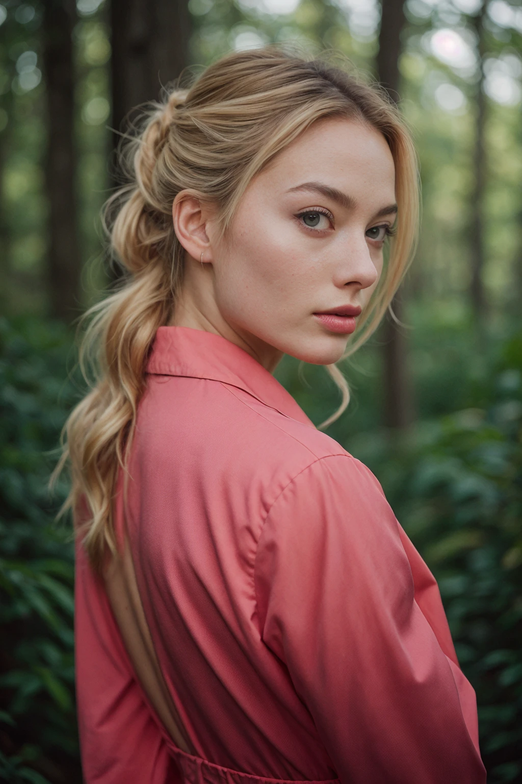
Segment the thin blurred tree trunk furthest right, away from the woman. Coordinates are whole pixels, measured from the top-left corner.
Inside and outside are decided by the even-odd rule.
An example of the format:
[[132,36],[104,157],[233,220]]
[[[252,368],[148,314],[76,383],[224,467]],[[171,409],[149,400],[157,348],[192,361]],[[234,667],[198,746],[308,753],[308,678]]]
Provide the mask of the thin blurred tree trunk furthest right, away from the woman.
[[475,182],[471,196],[471,285],[470,298],[473,316],[479,328],[484,326],[486,316],[486,295],[484,291],[484,190],[486,184],[486,159],[484,145],[484,128],[486,120],[486,96],[484,95],[484,13],[486,3],[482,6],[481,13],[475,17],[475,30],[477,31],[479,67],[481,78],[477,85],[477,122],[475,125],[475,147],[473,150],[473,166]]

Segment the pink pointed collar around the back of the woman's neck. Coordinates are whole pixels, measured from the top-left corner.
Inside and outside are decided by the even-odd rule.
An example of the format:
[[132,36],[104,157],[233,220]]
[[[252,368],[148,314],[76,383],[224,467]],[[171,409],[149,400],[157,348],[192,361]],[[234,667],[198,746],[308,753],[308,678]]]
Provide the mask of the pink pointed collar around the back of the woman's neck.
[[146,372],[231,384],[284,416],[314,426],[271,372],[247,351],[214,332],[191,327],[159,327]]

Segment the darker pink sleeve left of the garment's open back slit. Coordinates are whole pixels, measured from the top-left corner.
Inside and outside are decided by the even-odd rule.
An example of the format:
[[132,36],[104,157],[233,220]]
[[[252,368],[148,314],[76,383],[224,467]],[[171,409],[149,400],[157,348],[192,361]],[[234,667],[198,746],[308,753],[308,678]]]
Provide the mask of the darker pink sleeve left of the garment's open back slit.
[[77,717],[85,784],[179,781],[135,679],[103,584],[78,541],[74,605]]

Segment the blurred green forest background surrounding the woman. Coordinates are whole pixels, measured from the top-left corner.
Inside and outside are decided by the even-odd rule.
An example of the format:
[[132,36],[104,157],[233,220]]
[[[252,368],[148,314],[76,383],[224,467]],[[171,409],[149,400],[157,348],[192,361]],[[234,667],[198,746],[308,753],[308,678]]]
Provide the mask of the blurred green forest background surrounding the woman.
[[[394,312],[344,365],[327,432],[380,479],[436,575],[477,691],[488,782],[522,782],[522,5],[506,0],[2,0],[0,780],[81,782],[67,493],[75,320],[113,278],[99,209],[124,116],[221,53],[335,49],[419,151],[423,228]],[[317,424],[324,368],[277,377]]]

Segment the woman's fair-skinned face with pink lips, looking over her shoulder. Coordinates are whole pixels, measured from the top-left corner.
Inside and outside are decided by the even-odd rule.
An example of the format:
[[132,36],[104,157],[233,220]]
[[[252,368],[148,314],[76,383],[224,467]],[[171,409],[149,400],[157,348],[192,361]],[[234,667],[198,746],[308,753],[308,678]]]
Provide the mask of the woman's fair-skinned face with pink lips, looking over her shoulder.
[[344,118],[312,125],[252,180],[224,240],[206,224],[225,336],[268,369],[282,354],[340,359],[379,280],[396,210],[380,132]]

